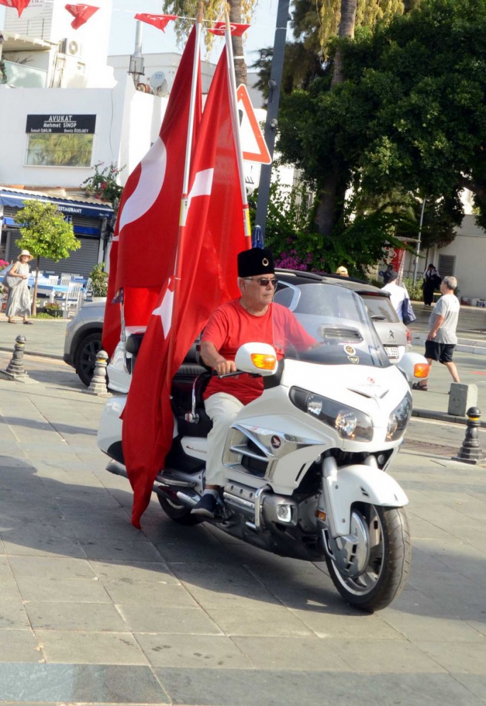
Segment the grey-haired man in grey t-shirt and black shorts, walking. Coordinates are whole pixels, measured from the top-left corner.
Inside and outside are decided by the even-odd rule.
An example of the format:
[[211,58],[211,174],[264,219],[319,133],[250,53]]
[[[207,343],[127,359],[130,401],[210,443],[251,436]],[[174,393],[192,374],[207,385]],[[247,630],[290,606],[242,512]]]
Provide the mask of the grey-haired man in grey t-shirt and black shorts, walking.
[[[454,382],[460,382],[458,370],[452,356],[458,337],[455,329],[458,325],[460,304],[454,292],[458,280],[455,277],[444,277],[441,282],[442,297],[438,300],[429,319],[429,335],[425,342],[425,357],[432,365],[433,360],[446,365]],[[427,382],[416,382],[414,390],[426,390]]]

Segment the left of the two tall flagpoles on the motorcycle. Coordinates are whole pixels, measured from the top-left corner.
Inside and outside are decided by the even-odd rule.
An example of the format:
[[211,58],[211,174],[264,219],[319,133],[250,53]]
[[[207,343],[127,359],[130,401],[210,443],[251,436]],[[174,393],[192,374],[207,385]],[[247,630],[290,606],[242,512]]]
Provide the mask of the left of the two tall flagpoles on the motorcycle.
[[172,323],[170,326],[170,341],[169,341],[169,354],[167,365],[167,383],[169,389],[172,386],[172,370],[170,361],[172,360],[174,346],[175,346],[175,320],[174,312],[177,311],[177,294],[179,289],[179,282],[182,275],[182,262],[180,258],[180,246],[182,243],[182,236],[184,233],[184,228],[186,226],[187,211],[188,211],[188,192],[189,192],[189,172],[191,169],[191,153],[192,153],[192,136],[194,133],[194,114],[196,112],[196,94],[197,94],[197,78],[199,73],[199,54],[201,45],[201,29],[202,23],[204,21],[204,2],[199,0],[199,9],[197,11],[196,18],[196,39],[194,42],[194,61],[192,63],[192,85],[191,85],[191,100],[189,103],[189,121],[187,125],[187,142],[186,142],[186,155],[184,162],[184,177],[182,179],[182,197],[180,206],[180,219],[179,219],[179,233],[177,235],[177,246],[175,250],[175,263],[174,263],[174,297],[172,299]]

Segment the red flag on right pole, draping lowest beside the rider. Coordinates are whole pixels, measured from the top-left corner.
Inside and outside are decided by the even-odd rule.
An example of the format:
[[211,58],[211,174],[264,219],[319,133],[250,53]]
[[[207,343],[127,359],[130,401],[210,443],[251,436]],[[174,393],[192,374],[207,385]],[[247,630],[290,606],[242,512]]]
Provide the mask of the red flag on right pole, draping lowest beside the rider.
[[150,502],[170,450],[174,421],[170,384],[209,315],[238,297],[236,255],[245,238],[243,199],[231,124],[226,50],[204,107],[180,232],[180,280],[162,288],[138,353],[125,411],[123,456],[133,487],[132,524]]

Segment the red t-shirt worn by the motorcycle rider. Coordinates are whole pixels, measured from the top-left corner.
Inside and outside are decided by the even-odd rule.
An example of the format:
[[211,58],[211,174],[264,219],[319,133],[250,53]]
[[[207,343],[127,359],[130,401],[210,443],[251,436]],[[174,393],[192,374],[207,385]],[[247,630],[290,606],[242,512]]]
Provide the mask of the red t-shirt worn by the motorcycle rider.
[[[236,351],[243,343],[270,343],[277,352],[277,358],[283,357],[289,343],[298,351],[305,351],[316,343],[315,338],[299,324],[289,309],[281,304],[270,304],[263,316],[253,316],[243,309],[239,299],[223,304],[212,314],[203,331],[201,343],[209,341],[216,346],[226,360],[234,360]],[[211,377],[204,392],[207,399],[216,392],[233,395],[243,404],[252,402],[263,392],[263,379],[250,377],[242,373],[236,377]]]

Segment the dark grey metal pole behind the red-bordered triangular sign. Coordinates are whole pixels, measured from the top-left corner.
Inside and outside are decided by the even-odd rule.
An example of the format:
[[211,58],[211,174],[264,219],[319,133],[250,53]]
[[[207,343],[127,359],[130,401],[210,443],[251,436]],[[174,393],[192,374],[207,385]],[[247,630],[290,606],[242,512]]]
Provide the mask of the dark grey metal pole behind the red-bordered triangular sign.
[[[282,72],[284,67],[285,40],[287,38],[287,23],[289,17],[290,0],[279,0],[277,9],[277,26],[275,27],[275,41],[273,44],[272,68],[268,82],[267,120],[265,121],[265,142],[267,143],[270,157],[273,159],[275,136],[278,126],[278,106],[280,102],[280,87],[282,85]],[[255,225],[262,229],[265,238],[267,224],[267,209],[270,199],[270,179],[272,165],[262,165],[260,169],[260,183],[258,185],[258,204]]]

